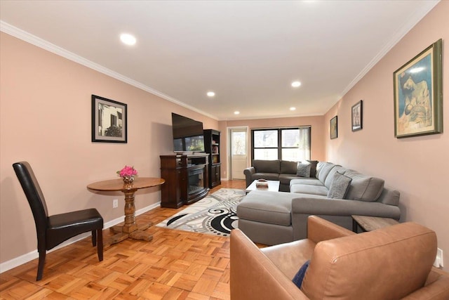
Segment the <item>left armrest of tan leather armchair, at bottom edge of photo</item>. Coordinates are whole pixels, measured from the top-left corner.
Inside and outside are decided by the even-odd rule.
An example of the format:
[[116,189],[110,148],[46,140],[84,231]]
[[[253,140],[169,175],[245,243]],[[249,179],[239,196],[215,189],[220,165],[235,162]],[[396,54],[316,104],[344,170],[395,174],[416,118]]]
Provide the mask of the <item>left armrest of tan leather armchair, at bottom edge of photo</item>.
[[231,232],[231,299],[308,299],[239,229]]

